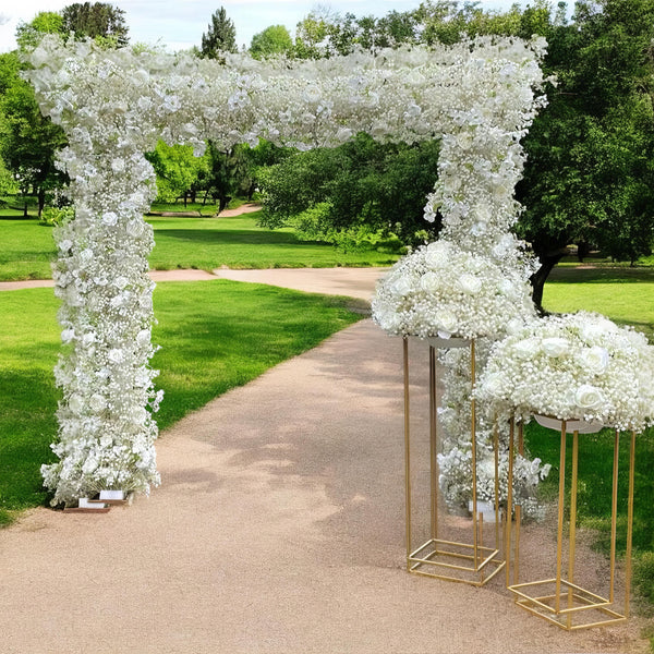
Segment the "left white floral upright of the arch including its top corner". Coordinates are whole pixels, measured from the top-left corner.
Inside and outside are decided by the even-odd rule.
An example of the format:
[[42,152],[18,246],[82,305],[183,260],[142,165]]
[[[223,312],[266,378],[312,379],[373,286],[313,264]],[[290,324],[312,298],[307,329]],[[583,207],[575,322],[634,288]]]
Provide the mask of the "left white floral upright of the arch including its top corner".
[[58,55],[45,46],[33,55],[45,63],[33,73],[37,88],[68,86],[41,108],[66,130],[70,145],[58,165],[71,178],[75,205],[75,218],[55,232],[63,341],[55,371],[62,389],[52,446],[59,460],[41,472],[55,492],[52,504],[70,506],[100,489],[147,493],[159,482],[152,412],[162,393],[148,365],[155,352],[155,284],[147,275],[154,239],[143,219],[155,175],[142,154],[156,136],[144,120],[150,104],[128,107],[136,81],[119,65],[88,46],[101,83],[85,85],[84,52]]

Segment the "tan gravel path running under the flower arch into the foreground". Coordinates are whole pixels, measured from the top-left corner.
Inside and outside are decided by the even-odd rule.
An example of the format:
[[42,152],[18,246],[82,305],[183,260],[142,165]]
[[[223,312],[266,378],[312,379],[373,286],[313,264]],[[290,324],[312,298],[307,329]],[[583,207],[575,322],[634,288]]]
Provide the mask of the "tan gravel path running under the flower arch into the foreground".
[[[343,274],[298,279],[325,291],[331,275]],[[348,275],[350,292],[372,290],[371,272]],[[412,349],[412,370],[424,355]],[[412,387],[425,415],[424,376]],[[474,589],[404,571],[401,398],[400,342],[365,319],[162,434],[149,499],[31,511],[0,531],[0,653],[646,651],[637,621],[567,633],[514,607],[502,579]],[[547,526],[525,535],[523,579],[552,547]],[[603,559],[581,560],[580,579],[597,582]]]

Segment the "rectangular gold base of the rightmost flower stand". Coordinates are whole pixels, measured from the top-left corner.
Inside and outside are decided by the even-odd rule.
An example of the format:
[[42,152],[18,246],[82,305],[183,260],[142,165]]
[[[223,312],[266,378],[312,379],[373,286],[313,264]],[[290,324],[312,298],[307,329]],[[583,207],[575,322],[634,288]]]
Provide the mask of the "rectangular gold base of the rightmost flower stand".
[[[558,592],[556,579],[516,584],[509,586],[509,591],[513,593],[518,606],[567,631],[603,627],[627,620],[627,616],[609,608],[613,604],[609,600],[565,579],[559,583]],[[542,586],[540,592],[549,592],[549,594],[534,596],[528,593],[532,589],[538,592],[538,586]]]

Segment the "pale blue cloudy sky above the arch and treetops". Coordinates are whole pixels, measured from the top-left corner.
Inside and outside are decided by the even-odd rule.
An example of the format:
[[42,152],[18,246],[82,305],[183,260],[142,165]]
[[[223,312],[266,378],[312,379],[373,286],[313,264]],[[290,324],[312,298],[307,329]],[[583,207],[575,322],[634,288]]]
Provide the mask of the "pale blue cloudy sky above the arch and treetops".
[[[0,52],[16,47],[19,22],[28,23],[41,11],[59,11],[75,0],[0,0]],[[82,0],[76,0],[82,1]],[[95,1],[95,0],[94,0]],[[338,13],[383,16],[408,11],[420,0],[108,0],[125,11],[131,43],[162,44],[170,50],[199,46],[211,14],[221,5],[234,22],[237,43],[250,46],[252,37],[270,25],[284,25],[294,35],[295,25],[312,10],[326,7]],[[516,0],[481,0],[487,9],[508,9]],[[526,4],[526,0],[518,0]]]

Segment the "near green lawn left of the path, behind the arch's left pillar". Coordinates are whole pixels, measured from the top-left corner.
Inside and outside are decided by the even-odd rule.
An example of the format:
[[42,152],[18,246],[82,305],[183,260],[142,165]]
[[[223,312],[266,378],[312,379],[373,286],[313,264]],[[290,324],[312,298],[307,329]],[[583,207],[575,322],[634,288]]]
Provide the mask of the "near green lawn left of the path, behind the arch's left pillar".
[[[158,284],[160,427],[358,320],[348,302],[226,280]],[[57,433],[57,307],[51,289],[0,293],[0,524],[46,500],[39,467],[52,460]]]

